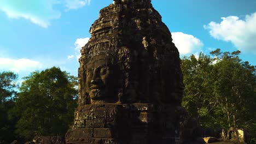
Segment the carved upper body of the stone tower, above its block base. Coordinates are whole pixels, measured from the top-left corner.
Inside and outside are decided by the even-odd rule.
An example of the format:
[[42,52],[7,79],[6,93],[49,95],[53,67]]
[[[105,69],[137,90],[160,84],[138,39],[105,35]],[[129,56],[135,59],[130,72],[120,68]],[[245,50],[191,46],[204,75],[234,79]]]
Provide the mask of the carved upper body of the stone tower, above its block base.
[[150,0],[115,1],[100,11],[79,59],[79,105],[180,105],[179,52]]

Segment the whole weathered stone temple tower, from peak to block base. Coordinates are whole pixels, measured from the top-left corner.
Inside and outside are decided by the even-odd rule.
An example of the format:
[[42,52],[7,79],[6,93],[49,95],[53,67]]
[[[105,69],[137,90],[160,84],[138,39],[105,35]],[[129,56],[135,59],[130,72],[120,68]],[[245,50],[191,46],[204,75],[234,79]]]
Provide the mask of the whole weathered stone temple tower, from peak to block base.
[[185,113],[179,52],[151,1],[114,0],[90,33],[66,143],[175,143]]

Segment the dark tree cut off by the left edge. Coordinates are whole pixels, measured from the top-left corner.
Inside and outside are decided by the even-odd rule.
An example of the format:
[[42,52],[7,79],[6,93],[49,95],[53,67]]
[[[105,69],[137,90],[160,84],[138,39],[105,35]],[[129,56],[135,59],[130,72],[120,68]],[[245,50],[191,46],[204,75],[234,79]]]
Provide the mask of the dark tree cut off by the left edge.
[[11,121],[8,118],[8,112],[14,106],[14,99],[17,94],[15,91],[17,78],[18,75],[13,72],[0,72],[0,141],[11,142],[15,139],[15,119]]

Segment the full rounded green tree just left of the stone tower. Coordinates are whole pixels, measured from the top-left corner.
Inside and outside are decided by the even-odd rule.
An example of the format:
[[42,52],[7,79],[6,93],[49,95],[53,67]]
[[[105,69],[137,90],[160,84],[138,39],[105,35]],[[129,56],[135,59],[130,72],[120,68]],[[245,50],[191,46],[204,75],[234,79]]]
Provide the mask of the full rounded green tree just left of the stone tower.
[[77,77],[60,68],[35,71],[24,78],[14,115],[19,117],[16,133],[31,140],[34,136],[64,136],[77,107]]

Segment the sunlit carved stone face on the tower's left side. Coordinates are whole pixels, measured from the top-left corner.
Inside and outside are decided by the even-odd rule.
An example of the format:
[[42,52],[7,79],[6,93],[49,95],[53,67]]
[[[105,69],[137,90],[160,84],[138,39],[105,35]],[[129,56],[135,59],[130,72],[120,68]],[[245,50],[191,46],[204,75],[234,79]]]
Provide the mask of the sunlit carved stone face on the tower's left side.
[[114,71],[117,69],[109,57],[96,56],[87,65],[86,86],[92,100],[109,100],[117,89],[117,76]]

